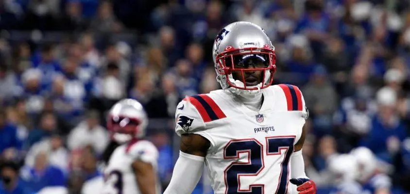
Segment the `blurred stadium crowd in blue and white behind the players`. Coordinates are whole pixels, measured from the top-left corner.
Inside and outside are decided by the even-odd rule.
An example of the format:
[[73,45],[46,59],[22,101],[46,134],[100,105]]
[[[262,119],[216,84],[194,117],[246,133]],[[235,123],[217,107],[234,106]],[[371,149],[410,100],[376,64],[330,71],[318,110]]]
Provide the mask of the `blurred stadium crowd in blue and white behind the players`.
[[[303,154],[318,187],[332,184],[329,158],[365,146],[392,190],[410,192],[409,7],[406,0],[0,0],[0,193],[64,186],[92,194],[87,184],[101,179],[113,147],[105,113],[124,97],[147,110],[165,188],[178,155],[176,105],[219,89],[213,41],[239,20],[272,39],[274,82],[304,94]],[[195,194],[208,191],[204,179]]]

